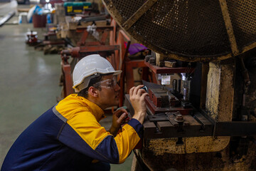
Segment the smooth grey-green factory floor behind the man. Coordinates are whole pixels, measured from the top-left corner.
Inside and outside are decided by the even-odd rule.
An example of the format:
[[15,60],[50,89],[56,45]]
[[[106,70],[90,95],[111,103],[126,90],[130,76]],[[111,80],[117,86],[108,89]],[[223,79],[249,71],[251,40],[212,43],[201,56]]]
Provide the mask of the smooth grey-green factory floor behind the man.
[[[60,55],[44,55],[25,43],[28,29],[43,38],[45,28],[16,21],[18,15],[0,27],[0,168],[18,135],[57,103],[61,91]],[[102,125],[109,127],[111,116],[105,120]],[[133,153],[123,164],[111,165],[111,170],[131,170],[132,157]]]

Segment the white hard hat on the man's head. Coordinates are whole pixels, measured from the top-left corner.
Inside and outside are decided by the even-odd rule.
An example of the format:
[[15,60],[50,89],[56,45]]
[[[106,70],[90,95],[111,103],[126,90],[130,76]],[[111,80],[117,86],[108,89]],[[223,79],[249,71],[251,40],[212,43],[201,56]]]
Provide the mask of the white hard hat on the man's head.
[[75,92],[87,88],[90,79],[99,76],[99,73],[117,75],[122,71],[114,71],[110,62],[98,54],[85,56],[75,65],[73,71],[73,88]]

